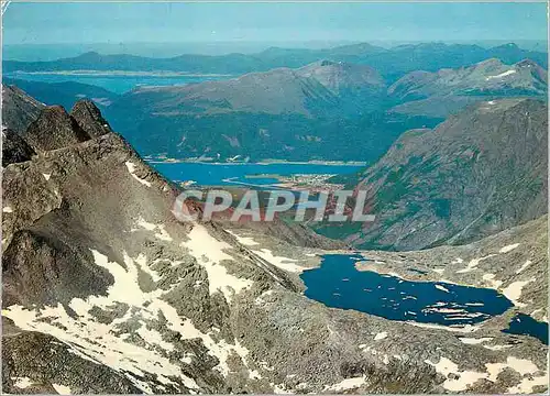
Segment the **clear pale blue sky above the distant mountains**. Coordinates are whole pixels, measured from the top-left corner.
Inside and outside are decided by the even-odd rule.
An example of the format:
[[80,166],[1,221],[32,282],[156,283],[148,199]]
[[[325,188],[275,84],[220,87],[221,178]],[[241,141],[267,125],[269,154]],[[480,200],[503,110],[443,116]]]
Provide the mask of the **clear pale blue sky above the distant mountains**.
[[4,44],[547,38],[540,3],[12,3]]

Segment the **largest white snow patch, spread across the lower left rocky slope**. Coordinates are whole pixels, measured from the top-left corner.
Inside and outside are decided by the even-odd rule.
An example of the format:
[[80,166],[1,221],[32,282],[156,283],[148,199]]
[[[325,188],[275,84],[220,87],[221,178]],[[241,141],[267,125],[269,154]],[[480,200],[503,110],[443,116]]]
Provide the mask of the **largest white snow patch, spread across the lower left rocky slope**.
[[[145,345],[142,346],[116,336],[124,329],[121,324],[127,320],[139,317],[147,320],[157,319],[161,312],[167,319],[168,327],[179,332],[183,339],[197,338],[199,332],[193,323],[188,319],[182,323],[182,318],[177,315],[176,309],[160,299],[166,290],[143,293],[140,289],[136,264],[128,255],[124,257],[127,264],[127,268],[124,268],[116,262],[109,262],[106,255],[95,250],[91,252],[96,265],[109,271],[114,283],[107,289],[107,296],[89,296],[86,299],[74,298],[70,300],[68,306],[75,311],[78,319],[69,316],[61,304],[36,310],[11,306],[3,314],[23,330],[40,331],[56,337],[79,353],[86,354],[120,373],[125,373],[127,377],[145,393],[153,393],[146,383],[138,380],[145,372],[156,375],[162,383],[173,383],[168,377],[174,376],[179,378],[186,387],[198,389],[199,387],[193,378],[184,375],[178,365],[172,363],[157,351],[160,346],[157,342],[161,342],[163,348],[167,348],[167,343],[162,341],[160,334],[146,331],[146,329],[141,330],[143,334],[148,337],[144,339]],[[114,319],[111,323],[98,322],[89,314],[94,307],[109,309],[114,302],[127,304],[133,309],[130,308],[124,317]],[[48,318],[50,322],[44,321],[45,318]]]

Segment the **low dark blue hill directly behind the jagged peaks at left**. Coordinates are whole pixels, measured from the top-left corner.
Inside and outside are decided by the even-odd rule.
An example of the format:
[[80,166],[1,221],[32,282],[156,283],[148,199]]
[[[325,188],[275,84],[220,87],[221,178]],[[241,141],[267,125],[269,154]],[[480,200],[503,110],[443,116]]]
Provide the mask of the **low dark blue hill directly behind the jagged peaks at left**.
[[101,87],[75,81],[42,82],[3,77],[3,84],[13,85],[46,105],[70,109],[79,99],[88,98],[100,108],[110,106],[118,95]]

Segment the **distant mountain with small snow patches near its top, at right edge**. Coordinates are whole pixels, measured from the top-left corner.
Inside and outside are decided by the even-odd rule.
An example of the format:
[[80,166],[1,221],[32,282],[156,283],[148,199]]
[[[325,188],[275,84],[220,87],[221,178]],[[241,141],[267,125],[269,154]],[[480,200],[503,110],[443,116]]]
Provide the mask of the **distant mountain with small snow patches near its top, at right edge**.
[[546,99],[548,73],[532,61],[506,65],[499,59],[437,73],[413,72],[388,88],[400,101],[392,111],[406,114],[447,117],[481,100],[503,97]]

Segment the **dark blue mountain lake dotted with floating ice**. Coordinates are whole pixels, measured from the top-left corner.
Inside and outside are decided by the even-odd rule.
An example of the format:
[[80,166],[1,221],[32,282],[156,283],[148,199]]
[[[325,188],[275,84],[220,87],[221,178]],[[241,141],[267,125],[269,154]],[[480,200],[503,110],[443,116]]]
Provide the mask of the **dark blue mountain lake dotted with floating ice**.
[[358,261],[365,258],[359,254],[323,255],[320,267],[300,276],[306,296],[328,307],[443,326],[479,323],[513,306],[494,289],[361,272],[355,268]]

